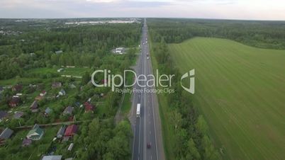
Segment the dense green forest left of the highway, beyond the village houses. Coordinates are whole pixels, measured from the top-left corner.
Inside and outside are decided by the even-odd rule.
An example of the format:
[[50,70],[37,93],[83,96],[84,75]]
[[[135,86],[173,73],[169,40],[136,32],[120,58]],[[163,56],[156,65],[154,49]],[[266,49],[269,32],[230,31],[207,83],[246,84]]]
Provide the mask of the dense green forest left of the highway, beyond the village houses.
[[98,67],[113,47],[138,45],[140,30],[138,23],[104,24],[1,35],[0,79],[21,76],[26,69],[53,65]]

